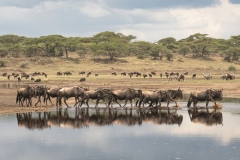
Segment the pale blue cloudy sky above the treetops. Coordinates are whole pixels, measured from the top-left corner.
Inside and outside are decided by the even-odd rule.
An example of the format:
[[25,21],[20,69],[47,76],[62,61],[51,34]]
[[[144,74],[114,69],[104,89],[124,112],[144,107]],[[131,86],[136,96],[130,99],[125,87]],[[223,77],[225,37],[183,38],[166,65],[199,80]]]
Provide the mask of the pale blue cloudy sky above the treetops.
[[195,33],[240,35],[240,0],[0,0],[0,35],[92,37],[111,31],[137,41]]

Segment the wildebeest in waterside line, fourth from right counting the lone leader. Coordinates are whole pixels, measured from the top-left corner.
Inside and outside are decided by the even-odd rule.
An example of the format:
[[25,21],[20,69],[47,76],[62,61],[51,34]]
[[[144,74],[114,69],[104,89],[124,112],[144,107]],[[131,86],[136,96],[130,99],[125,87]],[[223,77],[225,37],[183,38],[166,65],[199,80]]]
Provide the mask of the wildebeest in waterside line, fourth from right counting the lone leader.
[[136,98],[140,98],[142,96],[142,91],[140,89],[136,90],[132,88],[127,88],[124,90],[114,90],[111,93],[113,95],[113,101],[119,104],[120,107],[122,106],[120,103],[118,103],[117,100],[125,100],[125,104],[123,105],[123,107],[125,107],[125,105],[127,104],[127,101],[129,100],[132,107],[132,100]]

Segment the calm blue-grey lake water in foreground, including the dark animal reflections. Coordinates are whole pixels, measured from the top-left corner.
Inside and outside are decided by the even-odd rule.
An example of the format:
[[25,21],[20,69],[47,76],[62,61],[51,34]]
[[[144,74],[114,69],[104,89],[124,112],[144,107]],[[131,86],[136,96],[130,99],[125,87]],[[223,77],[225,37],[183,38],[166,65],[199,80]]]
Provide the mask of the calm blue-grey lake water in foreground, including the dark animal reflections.
[[169,111],[62,108],[1,115],[0,159],[240,159],[238,100],[208,111],[179,104]]

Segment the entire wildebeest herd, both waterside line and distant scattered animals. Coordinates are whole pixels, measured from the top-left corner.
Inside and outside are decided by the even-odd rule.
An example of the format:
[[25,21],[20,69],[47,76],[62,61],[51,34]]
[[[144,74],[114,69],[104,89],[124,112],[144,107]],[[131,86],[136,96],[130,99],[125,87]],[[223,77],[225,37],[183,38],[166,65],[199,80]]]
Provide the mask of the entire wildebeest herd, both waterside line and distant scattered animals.
[[[79,75],[86,74],[90,76],[91,72],[79,72]],[[11,74],[8,75],[7,73],[4,73],[3,76],[10,78],[10,76],[13,76],[14,78],[18,77],[19,79],[25,77],[26,79],[30,76],[35,75],[43,75],[47,77],[47,74],[44,72],[34,72],[32,74]],[[57,72],[58,76],[61,75],[72,75],[71,72]],[[116,72],[112,72],[112,75],[117,75]],[[139,72],[121,72],[121,76],[129,75],[131,78],[132,76],[142,76],[144,78],[152,76],[156,76],[155,72],[151,72],[149,74],[141,74]],[[184,81],[184,75],[188,75],[188,72],[185,72],[183,74],[179,74],[178,72],[165,72],[164,74],[160,73],[160,77],[163,77],[163,75],[166,76],[166,78],[171,80],[178,80],[178,81]],[[95,74],[95,76],[98,76],[98,74]],[[209,80],[212,78],[211,74],[203,73],[203,76]],[[192,74],[192,78],[196,78],[196,74]],[[232,74],[222,74],[222,79],[225,80],[233,80],[235,79],[235,76]],[[80,79],[81,82],[85,81],[86,79]],[[40,82],[41,79],[36,79],[35,82]],[[187,106],[190,107],[193,103],[193,106],[196,107],[197,103],[199,101],[206,101],[206,107],[208,107],[209,101],[212,101],[216,105],[216,101],[222,100],[222,91],[223,89],[206,89],[203,91],[195,91],[192,92],[189,96],[189,100],[187,102]],[[51,101],[51,98],[56,98],[56,106],[61,107],[62,106],[62,100],[64,101],[65,105],[69,107],[67,104],[67,100],[71,97],[75,98],[74,106],[81,107],[83,104],[86,104],[87,107],[89,107],[89,100],[96,100],[95,107],[98,106],[98,103],[100,100],[102,100],[106,107],[112,107],[114,103],[117,103],[120,107],[121,104],[118,102],[125,101],[124,106],[126,106],[127,102],[130,101],[131,107],[133,106],[133,100],[135,100],[135,106],[136,107],[144,107],[145,105],[150,106],[158,106],[161,107],[161,103],[165,102],[166,106],[169,107],[169,103],[175,102],[175,105],[178,106],[177,100],[183,98],[183,93],[180,88],[178,89],[169,89],[169,90],[155,90],[155,91],[147,91],[147,90],[141,90],[141,89],[133,89],[133,88],[127,88],[122,90],[113,90],[108,88],[98,88],[95,90],[90,90],[89,87],[80,87],[80,86],[72,86],[72,87],[51,87],[51,86],[44,86],[44,85],[36,85],[36,86],[28,86],[26,88],[19,88],[17,90],[17,97],[16,97],[16,103],[19,103],[19,106],[23,106],[24,102],[26,102],[26,106],[32,106],[32,98],[37,97],[37,102],[35,106],[37,106],[38,103],[40,103],[40,106],[42,106],[42,99],[43,103],[47,106],[48,101],[54,105]]]

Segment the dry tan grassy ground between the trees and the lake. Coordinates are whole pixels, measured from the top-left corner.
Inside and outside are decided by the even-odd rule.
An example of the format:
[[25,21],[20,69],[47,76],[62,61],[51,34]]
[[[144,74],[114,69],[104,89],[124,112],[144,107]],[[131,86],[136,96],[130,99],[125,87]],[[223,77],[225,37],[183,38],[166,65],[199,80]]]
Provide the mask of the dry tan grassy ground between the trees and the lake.
[[[76,58],[73,55],[72,58]],[[240,98],[240,78],[239,70],[240,65],[224,62],[221,57],[211,57],[208,59],[193,59],[186,57],[174,57],[174,60],[151,60],[137,59],[136,57],[118,58],[116,61],[109,63],[106,60],[94,59],[93,57],[80,58],[79,62],[76,59],[66,60],[63,58],[4,58],[7,62],[6,67],[0,68],[0,74],[7,72],[11,73],[33,73],[45,72],[48,77],[35,76],[34,78],[41,78],[40,83],[22,79],[18,82],[13,77],[8,80],[6,77],[0,76],[0,114],[16,113],[16,112],[31,112],[31,111],[46,111],[51,110],[53,106],[40,107],[19,107],[16,104],[16,91],[17,88],[25,85],[47,85],[47,86],[73,86],[80,85],[89,87],[89,89],[96,89],[99,87],[110,89],[124,89],[135,88],[142,90],[156,90],[156,89],[178,89],[179,87],[184,93],[189,94],[192,91],[203,90],[206,88],[223,88],[224,97]],[[25,67],[21,67],[25,64]],[[229,66],[234,66],[236,71],[229,71]],[[70,71],[73,73],[71,76],[57,76],[58,71]],[[78,72],[85,71],[92,72],[92,75],[86,77],[79,75]],[[150,73],[156,72],[153,78],[121,76],[121,72],[134,72]],[[111,75],[116,72],[117,76]],[[184,82],[168,81],[165,76],[160,78],[160,73],[165,72],[188,72],[185,75]],[[192,74],[196,73],[197,77],[192,79]],[[203,73],[210,73],[213,79],[206,80]],[[223,73],[235,74],[235,80],[222,80],[220,78]],[[98,76],[95,76],[98,74]],[[86,77],[85,82],[79,82],[80,78]],[[69,99],[68,103],[73,103],[74,99]],[[55,102],[55,99],[52,100]],[[33,100],[35,104],[36,99]]]

